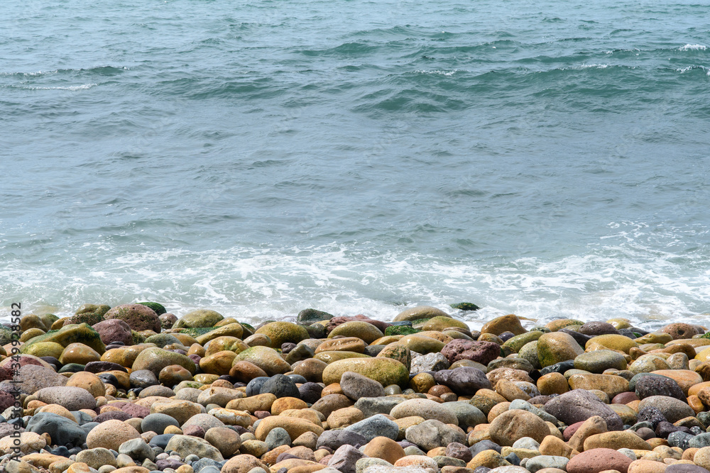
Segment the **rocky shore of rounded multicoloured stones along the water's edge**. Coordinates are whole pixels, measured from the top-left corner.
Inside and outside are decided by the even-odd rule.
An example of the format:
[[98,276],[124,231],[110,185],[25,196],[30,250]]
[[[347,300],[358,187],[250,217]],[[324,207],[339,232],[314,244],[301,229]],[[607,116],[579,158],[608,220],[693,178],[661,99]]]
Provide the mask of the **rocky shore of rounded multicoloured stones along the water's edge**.
[[475,309],[23,316],[0,327],[0,471],[710,473],[705,327],[478,331]]

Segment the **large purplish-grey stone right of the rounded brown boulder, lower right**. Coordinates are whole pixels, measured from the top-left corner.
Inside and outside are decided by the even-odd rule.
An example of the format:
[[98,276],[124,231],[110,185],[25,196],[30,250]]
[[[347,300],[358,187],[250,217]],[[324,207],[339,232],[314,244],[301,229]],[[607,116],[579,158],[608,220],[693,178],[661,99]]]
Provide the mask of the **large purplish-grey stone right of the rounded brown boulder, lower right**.
[[594,394],[583,389],[574,389],[553,398],[545,404],[545,411],[567,425],[586,421],[592,416],[601,416],[608,430],[623,428],[623,421],[617,413],[599,401]]

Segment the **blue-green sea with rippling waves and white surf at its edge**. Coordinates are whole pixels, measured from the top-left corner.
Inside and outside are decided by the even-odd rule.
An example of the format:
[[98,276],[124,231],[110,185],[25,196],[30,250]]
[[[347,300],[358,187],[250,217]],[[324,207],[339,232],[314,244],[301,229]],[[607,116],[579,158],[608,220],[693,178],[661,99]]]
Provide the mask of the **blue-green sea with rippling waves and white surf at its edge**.
[[0,316],[707,323],[709,6],[7,0]]

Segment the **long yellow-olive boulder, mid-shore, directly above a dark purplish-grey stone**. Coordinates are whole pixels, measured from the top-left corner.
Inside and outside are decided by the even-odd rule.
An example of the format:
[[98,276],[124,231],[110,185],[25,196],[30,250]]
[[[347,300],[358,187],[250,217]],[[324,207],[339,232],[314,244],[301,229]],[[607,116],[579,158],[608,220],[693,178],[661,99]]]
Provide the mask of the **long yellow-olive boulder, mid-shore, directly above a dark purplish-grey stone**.
[[349,358],[332,362],[323,370],[323,382],[327,386],[339,383],[344,372],[356,372],[381,383],[383,386],[398,384],[407,386],[409,370],[405,365],[386,357]]

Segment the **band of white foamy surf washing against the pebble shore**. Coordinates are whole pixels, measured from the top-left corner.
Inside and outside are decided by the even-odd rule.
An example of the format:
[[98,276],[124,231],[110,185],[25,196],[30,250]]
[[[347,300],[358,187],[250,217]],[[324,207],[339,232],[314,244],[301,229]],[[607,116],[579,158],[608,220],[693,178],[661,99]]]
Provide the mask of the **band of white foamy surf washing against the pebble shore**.
[[[16,294],[26,313],[65,315],[83,302],[153,300],[178,316],[212,308],[251,323],[293,320],[307,307],[390,320],[419,304],[456,313],[473,328],[505,313],[540,322],[627,317],[645,326],[680,319],[701,323],[707,318],[703,313],[710,307],[710,270],[701,264],[702,255],[678,262],[674,252],[644,247],[643,238],[651,232],[642,224],[616,223],[610,230],[608,239],[583,255],[527,257],[504,264],[335,243],[120,257],[113,248],[97,244],[82,251],[85,260],[104,261],[100,267],[83,265],[79,258],[71,268],[53,272],[18,262],[5,265],[0,269],[0,292]],[[449,308],[459,301],[482,309],[458,313]],[[0,310],[0,316],[7,315]]]

